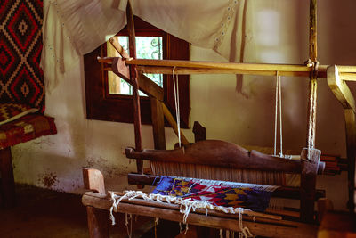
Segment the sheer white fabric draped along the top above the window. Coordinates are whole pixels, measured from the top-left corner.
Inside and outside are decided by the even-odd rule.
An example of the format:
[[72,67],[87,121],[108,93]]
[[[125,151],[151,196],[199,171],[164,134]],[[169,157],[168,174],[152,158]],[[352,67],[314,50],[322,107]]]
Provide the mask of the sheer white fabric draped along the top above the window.
[[[193,45],[240,61],[245,0],[131,0],[134,14]],[[90,53],[125,26],[127,0],[44,0],[41,65],[47,90],[69,59]],[[77,57],[74,57],[77,52]],[[72,57],[67,57],[67,56]]]

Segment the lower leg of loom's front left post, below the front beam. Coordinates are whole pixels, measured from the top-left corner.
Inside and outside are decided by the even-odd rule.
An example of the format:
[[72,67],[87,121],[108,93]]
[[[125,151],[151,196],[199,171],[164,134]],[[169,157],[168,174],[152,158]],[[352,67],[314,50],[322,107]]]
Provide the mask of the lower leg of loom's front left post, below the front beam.
[[86,207],[89,237],[109,238],[109,212],[103,209]]

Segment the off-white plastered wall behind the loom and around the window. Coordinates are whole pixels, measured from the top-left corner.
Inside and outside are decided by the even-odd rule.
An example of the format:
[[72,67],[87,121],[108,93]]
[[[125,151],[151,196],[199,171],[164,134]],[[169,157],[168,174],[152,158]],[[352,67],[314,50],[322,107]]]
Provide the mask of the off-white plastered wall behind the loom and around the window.
[[[247,62],[303,63],[308,59],[307,0],[247,1]],[[319,59],[321,64],[356,65],[354,0],[319,2]],[[213,51],[191,47],[191,60],[224,61]],[[305,144],[307,78],[283,78],[284,147],[300,150]],[[246,77],[243,93],[234,75],[191,77],[190,121],[207,127],[207,137],[237,144],[272,146],[274,78]],[[317,147],[322,152],[345,156],[344,116],[325,79],[319,80]],[[82,60],[66,69],[52,94],[46,95],[46,114],[53,116],[58,134],[13,147],[15,180],[69,193],[82,193],[82,168],[100,168],[111,189],[124,189],[125,175],[135,162],[123,150],[134,146],[131,124],[85,119]],[[193,135],[184,131],[190,141]],[[143,147],[152,148],[151,127],[142,127]],[[166,128],[167,147],[176,137]],[[345,209],[346,173],[320,176],[336,209]]]

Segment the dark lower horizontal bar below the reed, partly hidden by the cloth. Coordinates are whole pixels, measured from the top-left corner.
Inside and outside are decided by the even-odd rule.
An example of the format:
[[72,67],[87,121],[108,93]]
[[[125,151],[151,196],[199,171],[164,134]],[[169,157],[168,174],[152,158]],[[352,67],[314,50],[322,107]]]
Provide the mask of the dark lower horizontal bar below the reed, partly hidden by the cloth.
[[[127,175],[130,185],[157,185],[160,176],[140,175],[130,173]],[[271,195],[272,197],[300,199],[300,189],[297,187],[279,187]],[[325,198],[325,190],[316,190],[315,199]]]

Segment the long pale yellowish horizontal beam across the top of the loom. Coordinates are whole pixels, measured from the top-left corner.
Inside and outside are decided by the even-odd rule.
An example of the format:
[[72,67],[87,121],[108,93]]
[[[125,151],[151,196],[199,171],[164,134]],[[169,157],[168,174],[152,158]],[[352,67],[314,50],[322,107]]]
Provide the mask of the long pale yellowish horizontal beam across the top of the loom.
[[[98,57],[99,62],[112,63],[115,57]],[[190,62],[173,60],[122,59],[126,65],[137,63],[137,70],[142,73],[162,73],[177,75],[191,74],[244,74],[287,77],[309,77],[312,67],[303,64],[270,64],[270,63],[229,63],[229,62]],[[148,65],[143,63],[149,62]],[[211,67],[211,68],[209,68]],[[319,65],[318,78],[327,78],[328,65]],[[111,70],[104,68],[104,70]],[[342,80],[356,81],[356,66],[338,66]]]

